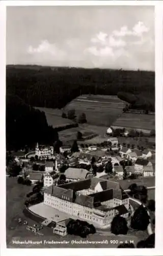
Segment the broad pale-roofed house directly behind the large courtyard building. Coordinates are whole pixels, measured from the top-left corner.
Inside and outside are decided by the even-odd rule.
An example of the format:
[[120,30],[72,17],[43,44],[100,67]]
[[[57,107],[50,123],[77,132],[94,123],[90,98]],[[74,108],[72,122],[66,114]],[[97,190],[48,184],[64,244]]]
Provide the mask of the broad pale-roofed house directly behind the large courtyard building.
[[71,168],[65,170],[64,175],[66,176],[66,181],[74,182],[78,180],[85,180],[90,178],[90,172],[82,168]]

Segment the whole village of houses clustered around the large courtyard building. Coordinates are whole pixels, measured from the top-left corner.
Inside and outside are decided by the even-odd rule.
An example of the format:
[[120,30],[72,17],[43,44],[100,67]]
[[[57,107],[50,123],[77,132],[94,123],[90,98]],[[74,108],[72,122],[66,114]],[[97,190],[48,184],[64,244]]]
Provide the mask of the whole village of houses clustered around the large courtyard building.
[[[127,138],[129,132],[123,130],[122,136]],[[35,152],[17,152],[14,161],[21,166],[18,183],[32,185],[31,195],[37,192],[37,197],[29,193],[29,199],[24,199],[24,215],[35,216],[41,223],[38,230],[29,225],[27,230],[39,233],[40,227],[48,226],[64,237],[70,220],[87,221],[105,230],[116,215],[129,220],[133,207],[121,182],[129,182],[126,189],[135,179],[146,179],[148,184],[155,176],[154,154],[153,149],[121,145],[111,127],[98,145],[82,147],[75,140],[72,146],[62,145],[57,154],[53,146],[37,143]]]

